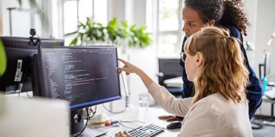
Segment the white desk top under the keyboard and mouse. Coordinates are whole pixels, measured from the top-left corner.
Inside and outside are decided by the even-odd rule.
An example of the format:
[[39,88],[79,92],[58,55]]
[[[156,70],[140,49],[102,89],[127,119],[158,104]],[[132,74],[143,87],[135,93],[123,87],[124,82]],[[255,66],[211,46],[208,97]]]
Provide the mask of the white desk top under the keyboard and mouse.
[[[145,123],[153,123],[155,125],[159,125],[162,127],[166,127],[166,125],[169,124],[168,122],[157,118],[157,116],[169,114],[162,108],[149,107],[146,112],[140,112],[138,107],[131,107],[131,108],[127,108],[125,112],[122,112],[120,114],[112,114],[110,112],[107,112],[107,110],[104,110],[104,108],[102,108],[102,106],[99,106],[97,113],[98,114],[103,114],[103,113],[107,114],[109,116],[109,119],[111,119],[113,121],[115,121],[115,120],[142,121]],[[144,125],[144,123],[140,123],[140,122],[122,123],[122,124],[127,127],[133,127],[133,128],[139,127],[140,125]],[[107,131],[107,134],[104,134],[100,137],[103,137],[103,136],[109,137],[109,136],[115,136],[115,133],[118,133],[120,131],[130,130],[127,127],[123,127],[122,125],[119,125],[119,126],[99,127],[98,129]],[[155,136],[158,136],[158,137],[177,136],[178,133],[179,133],[179,129],[164,129],[164,132],[160,132],[159,134],[156,134]]]

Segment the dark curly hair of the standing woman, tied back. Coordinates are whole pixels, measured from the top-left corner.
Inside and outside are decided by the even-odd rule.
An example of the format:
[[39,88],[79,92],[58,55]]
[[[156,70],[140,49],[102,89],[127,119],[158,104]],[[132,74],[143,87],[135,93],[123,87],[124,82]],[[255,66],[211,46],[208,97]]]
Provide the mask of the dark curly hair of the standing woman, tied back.
[[203,23],[214,20],[217,26],[232,25],[247,36],[250,26],[241,0],[185,0],[186,7],[197,11]]

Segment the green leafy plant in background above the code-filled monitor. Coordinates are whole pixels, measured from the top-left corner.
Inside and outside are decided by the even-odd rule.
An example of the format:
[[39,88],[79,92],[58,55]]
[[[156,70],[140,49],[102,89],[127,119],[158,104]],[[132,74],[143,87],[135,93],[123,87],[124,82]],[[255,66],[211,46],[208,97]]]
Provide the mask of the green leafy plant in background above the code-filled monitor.
[[152,42],[150,33],[145,32],[145,30],[145,26],[128,25],[126,21],[119,22],[117,18],[109,21],[106,27],[87,18],[85,24],[79,23],[75,32],[65,36],[76,35],[70,42],[70,46],[107,43],[121,47],[144,49]]

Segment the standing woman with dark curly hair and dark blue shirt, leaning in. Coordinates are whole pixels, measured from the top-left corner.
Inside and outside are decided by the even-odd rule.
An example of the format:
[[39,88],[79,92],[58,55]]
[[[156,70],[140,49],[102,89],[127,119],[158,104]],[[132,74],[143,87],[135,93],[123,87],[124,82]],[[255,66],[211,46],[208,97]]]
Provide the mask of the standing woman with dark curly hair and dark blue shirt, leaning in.
[[[247,27],[250,26],[247,15],[243,11],[243,5],[241,0],[185,0],[182,10],[182,20],[184,21],[182,30],[186,34],[184,42],[189,36],[207,26],[219,26],[229,29],[230,36],[241,41],[239,45],[245,58],[245,65],[250,72],[250,84],[246,87],[246,90],[249,100],[249,117],[252,119],[257,108],[261,105],[263,90],[259,79],[248,62],[243,47],[243,35],[247,35]],[[180,61],[180,64],[183,67],[182,79],[184,81],[182,98],[193,97],[195,95],[194,84],[187,79],[185,63]],[[166,121],[182,120],[179,116],[159,116],[159,119],[166,119]]]

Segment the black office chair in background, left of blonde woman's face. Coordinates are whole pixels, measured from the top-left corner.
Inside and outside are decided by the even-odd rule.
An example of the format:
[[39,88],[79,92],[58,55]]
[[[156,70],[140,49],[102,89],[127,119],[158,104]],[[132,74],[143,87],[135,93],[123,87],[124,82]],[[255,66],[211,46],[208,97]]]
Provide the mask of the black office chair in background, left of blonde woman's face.
[[178,58],[158,58],[159,73],[159,85],[167,88],[167,90],[173,95],[181,95],[183,88],[169,87],[164,84],[165,79],[181,76],[182,66],[179,64]]

